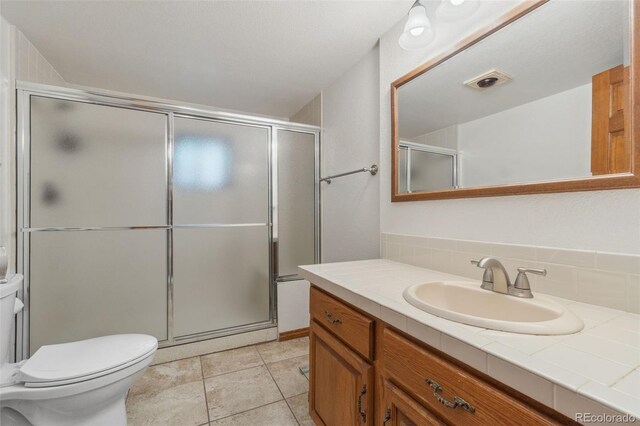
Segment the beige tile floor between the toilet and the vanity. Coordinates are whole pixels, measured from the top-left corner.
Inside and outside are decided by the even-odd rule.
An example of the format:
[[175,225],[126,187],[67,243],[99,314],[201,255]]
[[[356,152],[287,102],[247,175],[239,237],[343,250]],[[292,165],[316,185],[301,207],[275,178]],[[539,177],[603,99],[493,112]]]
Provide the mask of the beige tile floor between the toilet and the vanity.
[[154,365],[129,392],[129,425],[313,426],[308,354],[304,337]]

